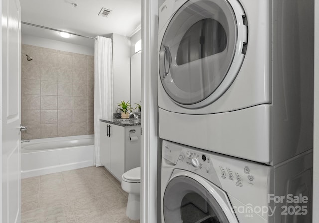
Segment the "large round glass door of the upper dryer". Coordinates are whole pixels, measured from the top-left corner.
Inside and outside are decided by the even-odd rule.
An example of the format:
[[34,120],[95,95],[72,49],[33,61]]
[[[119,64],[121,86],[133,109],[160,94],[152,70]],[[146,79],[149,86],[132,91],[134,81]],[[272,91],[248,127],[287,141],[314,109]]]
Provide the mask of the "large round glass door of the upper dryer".
[[189,0],[166,25],[160,79],[183,107],[217,100],[234,81],[247,46],[244,11],[237,0]]

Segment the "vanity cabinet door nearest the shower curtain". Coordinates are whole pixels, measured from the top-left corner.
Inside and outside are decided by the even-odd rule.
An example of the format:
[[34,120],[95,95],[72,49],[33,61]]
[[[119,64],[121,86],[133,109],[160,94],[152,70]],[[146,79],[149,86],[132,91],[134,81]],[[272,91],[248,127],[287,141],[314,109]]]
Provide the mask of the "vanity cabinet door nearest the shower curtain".
[[110,169],[110,137],[107,136],[109,124],[100,122],[100,159],[101,163]]

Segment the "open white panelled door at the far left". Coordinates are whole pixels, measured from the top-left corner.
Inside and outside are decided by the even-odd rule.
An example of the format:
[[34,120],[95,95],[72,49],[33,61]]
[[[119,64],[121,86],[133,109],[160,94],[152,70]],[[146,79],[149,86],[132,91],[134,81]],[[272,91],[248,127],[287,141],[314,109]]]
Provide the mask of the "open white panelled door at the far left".
[[2,223],[21,222],[21,7],[19,0],[1,0],[1,174]]

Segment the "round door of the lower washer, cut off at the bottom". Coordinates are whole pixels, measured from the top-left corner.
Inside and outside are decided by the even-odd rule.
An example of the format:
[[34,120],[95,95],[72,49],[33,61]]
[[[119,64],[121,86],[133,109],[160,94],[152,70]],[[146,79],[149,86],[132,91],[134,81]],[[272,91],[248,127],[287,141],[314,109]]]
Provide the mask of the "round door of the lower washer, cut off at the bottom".
[[198,175],[186,175],[174,177],[166,187],[165,223],[238,223],[224,192]]

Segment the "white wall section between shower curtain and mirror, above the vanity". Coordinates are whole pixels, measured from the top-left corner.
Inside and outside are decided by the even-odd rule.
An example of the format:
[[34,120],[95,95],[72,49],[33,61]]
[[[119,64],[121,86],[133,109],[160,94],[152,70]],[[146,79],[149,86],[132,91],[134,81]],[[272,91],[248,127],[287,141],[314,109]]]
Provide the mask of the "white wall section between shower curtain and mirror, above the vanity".
[[130,38],[113,34],[113,104],[130,101]]

